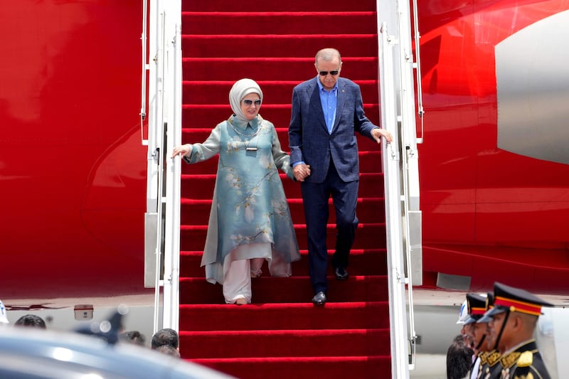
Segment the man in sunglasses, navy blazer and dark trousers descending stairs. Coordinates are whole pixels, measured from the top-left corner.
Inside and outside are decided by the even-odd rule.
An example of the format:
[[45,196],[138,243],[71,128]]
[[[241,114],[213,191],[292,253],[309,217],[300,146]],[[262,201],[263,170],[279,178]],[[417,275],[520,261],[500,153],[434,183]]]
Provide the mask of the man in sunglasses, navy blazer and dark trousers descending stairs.
[[363,112],[360,87],[340,78],[338,50],[320,50],[314,66],[317,78],[294,87],[289,125],[290,162],[301,183],[307,222],[309,272],[314,305],[326,303],[326,224],[328,199],[336,209],[336,248],[332,266],[336,279],[348,278],[348,257],[358,226],[359,160],[355,132],[381,142],[391,142]]

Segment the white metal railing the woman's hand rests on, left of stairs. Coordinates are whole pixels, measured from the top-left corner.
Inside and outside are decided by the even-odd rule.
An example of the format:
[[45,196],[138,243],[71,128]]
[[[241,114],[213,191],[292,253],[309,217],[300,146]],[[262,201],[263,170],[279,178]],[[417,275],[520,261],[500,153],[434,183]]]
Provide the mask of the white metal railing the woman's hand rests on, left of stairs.
[[[180,159],[170,156],[174,146],[181,142],[181,1],[150,0],[149,13],[152,64],[148,90],[144,283],[155,289],[154,331],[161,328],[177,331],[181,164]],[[162,297],[161,287],[164,287]]]

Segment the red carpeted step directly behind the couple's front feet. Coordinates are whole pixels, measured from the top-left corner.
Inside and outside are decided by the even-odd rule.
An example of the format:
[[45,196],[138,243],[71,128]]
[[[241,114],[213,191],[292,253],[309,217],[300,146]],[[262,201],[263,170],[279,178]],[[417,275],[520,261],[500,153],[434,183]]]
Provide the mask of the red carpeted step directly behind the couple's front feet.
[[[309,277],[260,277],[252,280],[252,302],[310,303],[313,292]],[[352,275],[345,281],[334,277],[328,280],[328,300],[387,301],[387,277],[385,275]],[[223,304],[220,284],[211,284],[201,278],[180,278],[180,304]]]

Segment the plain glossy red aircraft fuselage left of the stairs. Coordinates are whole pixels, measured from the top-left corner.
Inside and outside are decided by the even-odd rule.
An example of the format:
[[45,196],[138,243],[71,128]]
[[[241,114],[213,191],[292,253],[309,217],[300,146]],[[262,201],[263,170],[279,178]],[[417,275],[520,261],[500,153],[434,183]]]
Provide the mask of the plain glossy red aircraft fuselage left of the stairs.
[[142,289],[139,1],[0,12],[1,298]]

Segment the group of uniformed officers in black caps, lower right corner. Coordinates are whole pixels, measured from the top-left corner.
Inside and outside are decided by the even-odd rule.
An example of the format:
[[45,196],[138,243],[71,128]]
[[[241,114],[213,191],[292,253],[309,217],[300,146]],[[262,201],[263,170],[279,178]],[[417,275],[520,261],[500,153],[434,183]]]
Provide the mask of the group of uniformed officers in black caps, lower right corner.
[[494,292],[467,294],[447,351],[448,379],[549,379],[534,331],[542,306],[524,289],[494,283]]

